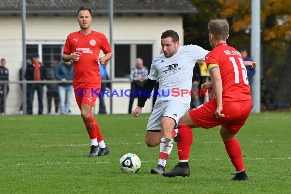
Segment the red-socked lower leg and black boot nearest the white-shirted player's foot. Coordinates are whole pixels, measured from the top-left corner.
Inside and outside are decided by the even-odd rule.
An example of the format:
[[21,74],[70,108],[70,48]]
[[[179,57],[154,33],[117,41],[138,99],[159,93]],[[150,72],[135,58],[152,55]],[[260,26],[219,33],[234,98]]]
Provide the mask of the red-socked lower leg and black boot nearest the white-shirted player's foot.
[[192,130],[187,125],[179,125],[177,136],[179,137],[177,142],[179,163],[171,171],[164,172],[162,175],[165,177],[188,177],[190,175],[189,153],[193,142]]

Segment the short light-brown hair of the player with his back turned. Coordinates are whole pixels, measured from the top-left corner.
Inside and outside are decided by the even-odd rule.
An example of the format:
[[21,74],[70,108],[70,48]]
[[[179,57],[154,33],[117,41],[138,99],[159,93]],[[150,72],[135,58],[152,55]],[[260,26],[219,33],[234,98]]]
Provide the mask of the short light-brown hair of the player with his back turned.
[[212,19],[208,23],[209,34],[219,40],[227,40],[229,25],[226,19]]

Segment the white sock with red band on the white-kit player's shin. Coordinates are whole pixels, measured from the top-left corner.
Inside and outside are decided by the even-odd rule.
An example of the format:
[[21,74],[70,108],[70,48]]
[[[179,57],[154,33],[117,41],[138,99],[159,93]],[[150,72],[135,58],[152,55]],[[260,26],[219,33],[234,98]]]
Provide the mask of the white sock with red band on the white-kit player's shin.
[[166,166],[169,155],[173,148],[173,139],[162,138],[160,142],[160,155],[158,165]]

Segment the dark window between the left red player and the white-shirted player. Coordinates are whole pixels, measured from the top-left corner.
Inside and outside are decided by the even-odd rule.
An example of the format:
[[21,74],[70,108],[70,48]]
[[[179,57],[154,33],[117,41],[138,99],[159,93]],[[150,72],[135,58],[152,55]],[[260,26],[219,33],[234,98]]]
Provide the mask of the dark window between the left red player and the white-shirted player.
[[135,67],[136,58],[143,59],[143,65],[151,68],[153,43],[114,45],[114,77],[129,78],[130,70]]

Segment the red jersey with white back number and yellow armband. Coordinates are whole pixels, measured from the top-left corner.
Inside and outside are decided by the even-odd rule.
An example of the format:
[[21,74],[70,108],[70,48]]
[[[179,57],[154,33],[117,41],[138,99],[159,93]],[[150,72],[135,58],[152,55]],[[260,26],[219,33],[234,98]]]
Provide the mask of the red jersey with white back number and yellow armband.
[[242,101],[251,98],[251,91],[244,60],[239,51],[226,43],[220,43],[205,56],[209,70],[219,66],[222,79],[222,100]]

